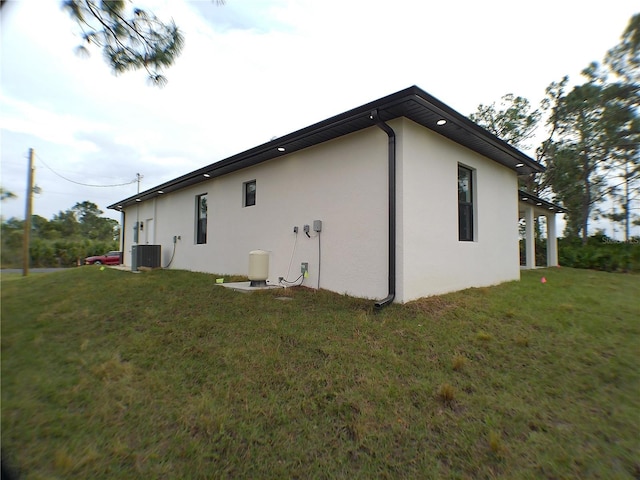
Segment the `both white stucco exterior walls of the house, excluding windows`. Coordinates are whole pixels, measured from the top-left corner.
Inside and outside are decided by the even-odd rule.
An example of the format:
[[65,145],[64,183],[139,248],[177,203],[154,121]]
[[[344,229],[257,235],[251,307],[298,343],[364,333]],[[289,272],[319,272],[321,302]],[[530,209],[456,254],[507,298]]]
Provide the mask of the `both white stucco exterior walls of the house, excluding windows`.
[[[389,124],[397,136],[396,301],[519,279],[515,172],[408,119]],[[162,245],[163,267],[171,260],[173,237],[180,236],[170,268],[247,275],[249,252],[261,249],[270,252],[270,283],[280,276],[295,280],[300,263],[308,262],[304,285],[316,288],[313,221],[322,220],[320,287],[382,299],[388,275],[387,140],[373,126],[127,208],[124,262],[131,264],[139,218],[145,223],[139,243]],[[474,171],[473,242],[458,240],[459,163]],[[256,205],[243,207],[243,184],[251,180]],[[196,196],[204,193],[207,243],[197,245]]]

